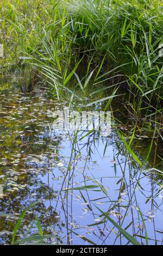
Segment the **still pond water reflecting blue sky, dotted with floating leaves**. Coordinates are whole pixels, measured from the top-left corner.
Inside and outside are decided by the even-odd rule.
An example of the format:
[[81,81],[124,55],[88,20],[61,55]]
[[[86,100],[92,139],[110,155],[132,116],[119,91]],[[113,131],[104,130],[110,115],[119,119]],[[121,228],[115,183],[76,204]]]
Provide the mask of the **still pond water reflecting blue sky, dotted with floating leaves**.
[[[0,100],[2,245],[11,243],[18,215],[33,202],[15,241],[39,234],[39,219],[43,234],[54,235],[45,244],[128,244],[105,212],[140,243],[148,237],[149,245],[162,244],[163,173],[160,165],[160,171],[153,168],[153,154],[140,168],[114,127],[108,137],[53,129],[53,113],[62,105],[43,86],[32,92],[4,89]],[[133,150],[145,160],[148,135],[135,137]]]

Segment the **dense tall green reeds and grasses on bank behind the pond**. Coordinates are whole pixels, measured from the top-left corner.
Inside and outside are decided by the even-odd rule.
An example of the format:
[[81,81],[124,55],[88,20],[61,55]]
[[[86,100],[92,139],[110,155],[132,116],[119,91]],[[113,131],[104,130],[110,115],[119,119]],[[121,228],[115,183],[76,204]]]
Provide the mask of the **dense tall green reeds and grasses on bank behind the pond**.
[[[92,86],[80,82],[85,76],[92,76],[97,88],[108,79],[128,90],[131,112],[160,112],[162,8],[158,0],[2,1],[3,65],[32,58],[57,94],[57,78],[64,87],[77,78],[82,90]],[[84,66],[83,77],[71,74],[78,65]]]

